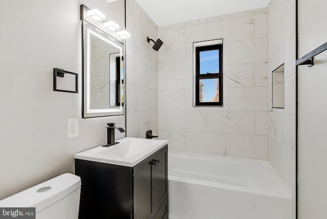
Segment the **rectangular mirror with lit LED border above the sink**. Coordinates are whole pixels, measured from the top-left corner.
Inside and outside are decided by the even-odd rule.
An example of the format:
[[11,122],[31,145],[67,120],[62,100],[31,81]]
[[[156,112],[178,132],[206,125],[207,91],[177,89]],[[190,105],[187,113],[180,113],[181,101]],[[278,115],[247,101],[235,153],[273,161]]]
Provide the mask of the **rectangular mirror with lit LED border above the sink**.
[[124,44],[83,27],[83,118],[124,114]]

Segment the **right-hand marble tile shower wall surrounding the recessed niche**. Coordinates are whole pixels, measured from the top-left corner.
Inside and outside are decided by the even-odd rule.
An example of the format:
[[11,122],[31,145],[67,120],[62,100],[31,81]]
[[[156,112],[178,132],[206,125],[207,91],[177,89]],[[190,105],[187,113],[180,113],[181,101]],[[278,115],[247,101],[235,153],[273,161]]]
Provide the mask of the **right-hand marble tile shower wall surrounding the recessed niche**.
[[[272,108],[272,71],[284,63],[284,109]],[[268,6],[268,161],[295,199],[295,0]],[[293,218],[295,211],[293,209]]]

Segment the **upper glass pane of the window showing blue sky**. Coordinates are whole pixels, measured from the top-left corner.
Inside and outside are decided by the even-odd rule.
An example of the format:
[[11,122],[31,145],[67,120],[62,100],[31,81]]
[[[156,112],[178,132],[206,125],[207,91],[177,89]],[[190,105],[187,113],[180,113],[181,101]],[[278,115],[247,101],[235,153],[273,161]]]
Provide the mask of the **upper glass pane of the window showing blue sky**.
[[219,50],[200,52],[200,74],[219,73]]

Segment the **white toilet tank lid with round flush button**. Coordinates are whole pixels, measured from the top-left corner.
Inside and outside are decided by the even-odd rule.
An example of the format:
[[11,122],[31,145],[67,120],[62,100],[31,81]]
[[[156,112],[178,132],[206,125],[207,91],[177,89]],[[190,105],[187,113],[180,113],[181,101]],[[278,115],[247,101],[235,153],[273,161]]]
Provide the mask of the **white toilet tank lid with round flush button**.
[[[36,212],[58,202],[81,186],[81,178],[62,174],[0,201],[0,207],[35,207]],[[43,192],[38,192],[40,188]],[[49,189],[51,187],[51,189]],[[49,190],[47,190],[49,189]]]

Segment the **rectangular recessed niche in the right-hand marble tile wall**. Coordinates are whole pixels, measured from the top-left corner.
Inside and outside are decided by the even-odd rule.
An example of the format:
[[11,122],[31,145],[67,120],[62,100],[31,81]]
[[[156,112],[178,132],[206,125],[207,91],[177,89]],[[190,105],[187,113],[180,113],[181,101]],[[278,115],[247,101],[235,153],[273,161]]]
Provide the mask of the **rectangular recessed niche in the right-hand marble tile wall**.
[[272,108],[284,109],[284,64],[272,71]]

